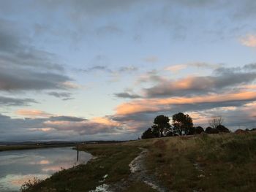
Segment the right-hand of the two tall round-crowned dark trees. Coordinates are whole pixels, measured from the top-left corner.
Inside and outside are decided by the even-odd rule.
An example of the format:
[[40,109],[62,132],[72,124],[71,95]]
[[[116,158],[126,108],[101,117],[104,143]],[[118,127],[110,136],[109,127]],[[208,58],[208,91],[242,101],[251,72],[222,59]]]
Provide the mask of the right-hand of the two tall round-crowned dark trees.
[[192,118],[188,114],[178,112],[173,115],[173,130],[176,131],[179,135],[189,133],[189,130],[193,128]]

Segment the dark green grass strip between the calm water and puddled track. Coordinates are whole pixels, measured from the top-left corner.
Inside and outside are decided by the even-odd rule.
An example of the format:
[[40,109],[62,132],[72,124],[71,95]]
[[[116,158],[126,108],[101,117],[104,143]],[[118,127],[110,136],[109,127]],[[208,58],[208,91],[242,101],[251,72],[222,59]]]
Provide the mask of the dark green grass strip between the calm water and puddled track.
[[[138,147],[123,144],[83,145],[80,150],[87,151],[97,158],[86,165],[81,164],[57,172],[26,191],[89,191],[101,185],[102,180],[106,184],[127,180],[129,163],[140,153]],[[136,191],[135,188],[139,185],[148,191],[151,190],[140,182],[127,185],[128,191]]]

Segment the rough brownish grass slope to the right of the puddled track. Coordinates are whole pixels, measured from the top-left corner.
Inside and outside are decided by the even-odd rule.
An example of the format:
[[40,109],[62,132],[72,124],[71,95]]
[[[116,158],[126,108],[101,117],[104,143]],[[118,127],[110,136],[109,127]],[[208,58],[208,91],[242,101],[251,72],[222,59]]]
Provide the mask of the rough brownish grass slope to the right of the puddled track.
[[[159,142],[159,141],[158,141]],[[255,191],[255,134],[152,140],[147,167],[171,191]]]

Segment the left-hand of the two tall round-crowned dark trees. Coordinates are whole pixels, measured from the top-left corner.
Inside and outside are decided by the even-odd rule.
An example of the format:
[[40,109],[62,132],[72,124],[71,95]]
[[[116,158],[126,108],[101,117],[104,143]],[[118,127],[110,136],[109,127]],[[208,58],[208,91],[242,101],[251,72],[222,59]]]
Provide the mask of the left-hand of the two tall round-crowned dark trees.
[[153,132],[158,134],[158,137],[164,137],[165,132],[170,130],[170,119],[165,115],[158,115],[154,118]]

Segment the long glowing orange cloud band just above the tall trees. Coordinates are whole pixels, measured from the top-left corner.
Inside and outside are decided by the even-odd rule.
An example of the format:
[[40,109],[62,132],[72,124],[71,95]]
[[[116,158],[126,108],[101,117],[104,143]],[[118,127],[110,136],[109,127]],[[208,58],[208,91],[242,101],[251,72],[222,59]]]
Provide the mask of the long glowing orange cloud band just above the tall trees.
[[172,97],[167,99],[139,99],[116,107],[117,115],[129,115],[136,112],[157,112],[168,109],[173,104],[200,104],[222,101],[246,101],[256,99],[256,92],[209,94],[195,97]]

